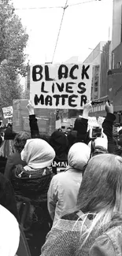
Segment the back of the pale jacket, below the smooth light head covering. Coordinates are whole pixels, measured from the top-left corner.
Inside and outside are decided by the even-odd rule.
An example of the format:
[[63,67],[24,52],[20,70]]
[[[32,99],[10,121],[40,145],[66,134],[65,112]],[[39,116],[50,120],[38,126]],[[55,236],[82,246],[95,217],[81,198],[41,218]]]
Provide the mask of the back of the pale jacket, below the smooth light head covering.
[[[66,172],[58,173],[53,177],[48,191],[48,210],[54,223],[76,207],[82,173],[68,168]],[[58,195],[54,202],[54,196]],[[54,206],[55,205],[55,206]]]

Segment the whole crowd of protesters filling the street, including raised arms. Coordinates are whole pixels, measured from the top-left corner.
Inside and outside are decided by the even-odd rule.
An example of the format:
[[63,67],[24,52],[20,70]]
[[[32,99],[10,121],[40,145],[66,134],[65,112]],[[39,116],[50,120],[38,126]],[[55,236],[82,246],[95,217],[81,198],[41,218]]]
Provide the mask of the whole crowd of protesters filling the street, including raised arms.
[[122,130],[113,134],[105,104],[100,137],[91,139],[91,102],[74,128],[39,134],[28,102],[29,132],[9,125],[0,146],[3,256],[122,254]]

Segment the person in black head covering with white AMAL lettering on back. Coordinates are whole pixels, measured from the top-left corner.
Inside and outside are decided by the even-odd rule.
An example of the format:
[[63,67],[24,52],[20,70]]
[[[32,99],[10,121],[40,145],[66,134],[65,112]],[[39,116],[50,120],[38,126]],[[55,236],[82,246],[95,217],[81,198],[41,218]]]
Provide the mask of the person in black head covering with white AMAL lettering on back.
[[68,165],[68,139],[64,132],[55,131],[50,136],[50,145],[56,156],[52,163],[53,173],[64,171]]

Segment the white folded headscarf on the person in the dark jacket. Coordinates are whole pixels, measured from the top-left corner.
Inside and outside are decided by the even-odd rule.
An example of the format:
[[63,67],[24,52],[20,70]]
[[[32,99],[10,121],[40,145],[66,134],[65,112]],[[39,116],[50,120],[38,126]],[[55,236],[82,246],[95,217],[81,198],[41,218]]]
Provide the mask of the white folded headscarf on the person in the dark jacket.
[[53,147],[43,139],[28,139],[21,159],[26,161],[32,169],[43,169],[51,165],[55,158]]

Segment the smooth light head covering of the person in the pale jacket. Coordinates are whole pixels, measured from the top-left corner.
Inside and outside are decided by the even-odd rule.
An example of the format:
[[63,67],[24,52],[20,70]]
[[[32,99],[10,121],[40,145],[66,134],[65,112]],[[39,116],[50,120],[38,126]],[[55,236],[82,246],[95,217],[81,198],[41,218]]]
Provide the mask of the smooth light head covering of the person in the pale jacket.
[[90,159],[91,149],[85,143],[75,143],[68,152],[68,165],[75,169],[83,170]]

